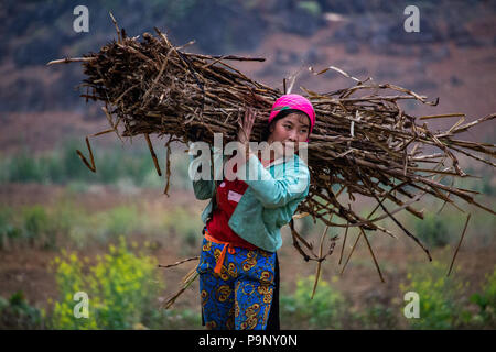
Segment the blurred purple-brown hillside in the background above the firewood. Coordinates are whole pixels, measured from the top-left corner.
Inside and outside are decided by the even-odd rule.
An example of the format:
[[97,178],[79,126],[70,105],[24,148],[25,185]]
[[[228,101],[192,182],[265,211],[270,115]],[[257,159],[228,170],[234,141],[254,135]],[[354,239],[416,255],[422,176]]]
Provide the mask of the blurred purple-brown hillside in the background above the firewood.
[[[89,10],[89,33],[73,30],[78,4]],[[299,70],[296,86],[328,91],[351,85],[333,73],[312,79],[304,69],[335,65],[356,77],[371,76],[440,97],[438,109],[443,111],[430,108],[429,114],[461,111],[471,120],[495,111],[496,2],[417,1],[420,33],[403,30],[408,4],[402,0],[2,1],[0,122],[11,133],[0,134],[0,147],[14,140],[34,142],[28,134],[14,135],[36,125],[33,119],[39,113],[53,123],[62,121],[61,131],[52,134],[74,132],[72,125],[80,121],[84,125],[105,119],[95,105],[78,97],[75,87],[84,79],[78,64],[45,64],[97,52],[115,38],[109,11],[129,36],[154,33],[158,26],[176,45],[195,40],[191,52],[266,57],[265,63],[239,67],[270,85],[280,86],[283,77]],[[425,113],[425,107],[406,109]],[[53,111],[63,118],[54,118]]]

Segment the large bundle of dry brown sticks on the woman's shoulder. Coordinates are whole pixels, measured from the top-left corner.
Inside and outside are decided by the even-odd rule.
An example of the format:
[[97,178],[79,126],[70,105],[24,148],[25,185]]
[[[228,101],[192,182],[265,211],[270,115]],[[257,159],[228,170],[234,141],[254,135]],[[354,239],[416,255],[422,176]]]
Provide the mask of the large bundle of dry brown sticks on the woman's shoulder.
[[[258,116],[252,141],[261,141],[271,106],[284,91],[250,79],[231,62],[263,58],[187,53],[184,46],[175,47],[165,34],[155,31],[157,35],[144,33],[140,41],[139,37],[127,37],[123,30],[118,30],[117,41],[106,44],[99,52],[50,64],[82,62],[86,75],[82,84],[86,94],[82,97],[103,101],[111,127],[101,133],[116,132],[119,138],[143,134],[159,174],[150,134],[166,135],[169,142],[212,143],[214,133],[222,133],[224,142],[234,141],[240,117],[251,108]],[[448,186],[440,180],[446,176],[470,177],[460,167],[455,152],[495,166],[490,158],[496,154],[496,145],[463,141],[456,139],[456,134],[489,121],[496,114],[470,123],[464,123],[464,114],[460,113],[417,118],[403,111],[398,102],[410,99],[436,105],[436,101],[428,101],[427,97],[395,85],[376,84],[370,78],[360,81],[333,66],[319,73],[310,69],[315,75],[337,70],[348,76],[354,85],[331,92],[315,92],[302,87],[315,108],[316,124],[308,145],[310,194],[299,206],[295,218],[310,215],[326,226],[359,227],[360,230],[380,230],[392,235],[390,230],[377,223],[389,217],[429,255],[424,245],[398,222],[395,213],[407,210],[422,218],[422,212],[412,205],[425,194],[456,207],[456,198],[452,197],[455,196],[494,213],[474,200],[476,191]],[[433,132],[421,121],[450,117],[460,120],[443,132]],[[424,148],[430,152],[425,153]],[[78,153],[96,170],[93,155],[88,163]],[[485,155],[489,158],[484,158]],[[374,209],[367,218],[359,216],[338,200],[343,191],[351,200],[356,194],[374,198],[376,209],[381,209],[382,213],[373,216]],[[388,209],[385,200],[395,208]],[[342,221],[333,221],[332,216]],[[292,223],[291,228],[301,254],[306,260],[321,262],[323,254],[315,254]]]

